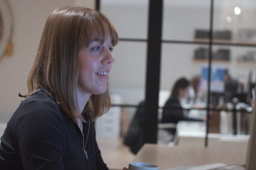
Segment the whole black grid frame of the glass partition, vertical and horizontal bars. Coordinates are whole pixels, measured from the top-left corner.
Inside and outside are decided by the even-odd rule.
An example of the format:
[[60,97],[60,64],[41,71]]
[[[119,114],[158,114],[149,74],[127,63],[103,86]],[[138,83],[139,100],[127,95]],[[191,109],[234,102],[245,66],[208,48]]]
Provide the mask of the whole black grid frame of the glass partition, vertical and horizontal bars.
[[[100,0],[96,0],[96,10],[100,10]],[[148,42],[147,45],[147,65],[146,65],[146,90],[145,90],[145,124],[144,124],[144,143],[157,143],[157,123],[158,123],[158,109],[164,108],[158,106],[159,87],[160,87],[160,61],[161,61],[161,45],[162,43],[173,44],[204,44],[209,45],[209,61],[208,61],[208,87],[207,87],[207,108],[196,109],[207,111],[207,129],[205,136],[205,147],[208,146],[208,132],[209,132],[209,111],[220,111],[212,109],[210,105],[210,81],[211,81],[211,66],[212,66],[212,46],[226,45],[226,46],[243,46],[256,47],[252,44],[240,43],[221,43],[212,41],[213,30],[213,12],[214,0],[210,0],[210,26],[209,26],[209,42],[194,42],[194,41],[179,41],[179,40],[162,40],[162,25],[163,25],[163,0],[149,0],[149,15],[148,15],[148,39],[134,39],[134,38],[119,38],[119,41],[131,42]],[[153,48],[152,48],[153,47]],[[138,108],[138,105],[112,105],[113,107],[130,107]],[[175,108],[174,108],[175,109]],[[195,108],[191,108],[195,109]],[[188,109],[189,110],[189,109]],[[223,109],[221,109],[223,110]],[[236,108],[233,109],[236,113]],[[246,113],[243,112],[243,113]]]

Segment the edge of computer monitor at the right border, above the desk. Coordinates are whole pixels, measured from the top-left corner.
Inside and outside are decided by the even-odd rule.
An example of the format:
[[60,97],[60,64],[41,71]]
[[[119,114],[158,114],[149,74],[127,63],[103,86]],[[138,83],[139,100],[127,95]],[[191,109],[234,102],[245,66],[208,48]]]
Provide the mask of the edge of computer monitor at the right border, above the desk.
[[[256,88],[255,88],[256,89]],[[255,93],[255,92],[254,92]],[[256,96],[256,95],[254,95]],[[254,98],[254,108],[251,124],[250,139],[247,147],[246,170],[256,170],[256,97]]]

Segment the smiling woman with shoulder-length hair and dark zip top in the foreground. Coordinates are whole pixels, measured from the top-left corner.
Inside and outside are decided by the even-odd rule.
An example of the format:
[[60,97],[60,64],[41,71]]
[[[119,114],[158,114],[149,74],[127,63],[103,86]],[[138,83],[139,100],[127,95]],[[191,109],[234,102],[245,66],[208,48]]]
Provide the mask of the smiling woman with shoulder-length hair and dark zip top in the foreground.
[[111,107],[108,75],[117,42],[99,11],[67,6],[49,14],[28,94],[1,137],[0,170],[108,169],[92,120]]

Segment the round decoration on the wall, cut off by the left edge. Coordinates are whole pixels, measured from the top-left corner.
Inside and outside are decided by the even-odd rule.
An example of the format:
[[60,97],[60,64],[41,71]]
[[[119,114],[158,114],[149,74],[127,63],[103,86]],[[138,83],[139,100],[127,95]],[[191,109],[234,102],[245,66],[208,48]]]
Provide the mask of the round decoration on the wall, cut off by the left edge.
[[12,36],[12,13],[6,0],[0,0],[0,57],[6,54],[6,49]]

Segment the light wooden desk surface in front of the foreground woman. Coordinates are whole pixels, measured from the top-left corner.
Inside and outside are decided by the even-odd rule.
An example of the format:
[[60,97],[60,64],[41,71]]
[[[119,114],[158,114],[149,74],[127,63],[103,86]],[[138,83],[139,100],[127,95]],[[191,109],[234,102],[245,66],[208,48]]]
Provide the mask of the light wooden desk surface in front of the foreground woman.
[[144,144],[133,159],[134,162],[156,164],[159,170],[179,166],[224,163],[245,164],[247,144],[237,143],[237,147],[186,147]]

